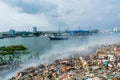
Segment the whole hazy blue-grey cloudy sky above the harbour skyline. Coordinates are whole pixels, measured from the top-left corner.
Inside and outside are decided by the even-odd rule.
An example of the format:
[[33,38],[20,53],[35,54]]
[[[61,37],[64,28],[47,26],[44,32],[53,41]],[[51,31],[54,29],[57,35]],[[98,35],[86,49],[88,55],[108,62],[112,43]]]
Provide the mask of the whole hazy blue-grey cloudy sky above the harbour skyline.
[[120,26],[120,0],[0,0],[0,31],[110,29]]

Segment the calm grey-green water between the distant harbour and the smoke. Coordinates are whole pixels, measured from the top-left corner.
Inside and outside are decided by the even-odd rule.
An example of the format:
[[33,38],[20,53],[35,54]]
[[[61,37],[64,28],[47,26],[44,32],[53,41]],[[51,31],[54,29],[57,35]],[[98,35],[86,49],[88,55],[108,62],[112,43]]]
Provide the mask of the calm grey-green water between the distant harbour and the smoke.
[[72,36],[68,40],[51,41],[49,38],[40,37],[16,37],[16,38],[5,38],[0,39],[0,46],[9,45],[24,45],[33,53],[43,54],[46,51],[58,50],[64,51],[70,48],[88,47],[95,44],[109,44],[120,41],[120,34],[110,35],[89,35],[89,36]]

